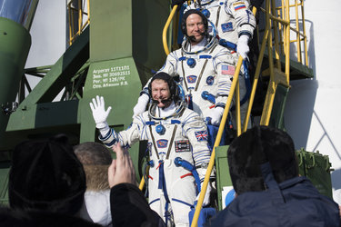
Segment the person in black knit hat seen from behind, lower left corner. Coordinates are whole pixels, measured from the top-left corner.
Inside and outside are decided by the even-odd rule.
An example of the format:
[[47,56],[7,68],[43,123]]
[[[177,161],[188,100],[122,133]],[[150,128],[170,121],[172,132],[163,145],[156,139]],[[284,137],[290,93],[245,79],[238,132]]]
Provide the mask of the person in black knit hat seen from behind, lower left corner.
[[15,146],[9,173],[11,209],[0,225],[99,226],[76,217],[84,202],[85,172],[64,134]]

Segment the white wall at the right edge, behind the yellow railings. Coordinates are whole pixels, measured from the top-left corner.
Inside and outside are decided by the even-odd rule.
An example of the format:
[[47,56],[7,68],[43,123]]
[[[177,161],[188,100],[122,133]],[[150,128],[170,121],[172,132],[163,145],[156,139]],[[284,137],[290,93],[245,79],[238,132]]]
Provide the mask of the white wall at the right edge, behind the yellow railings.
[[313,80],[291,83],[286,102],[286,130],[296,148],[329,156],[334,189],[341,189],[341,2],[305,1],[309,66]]

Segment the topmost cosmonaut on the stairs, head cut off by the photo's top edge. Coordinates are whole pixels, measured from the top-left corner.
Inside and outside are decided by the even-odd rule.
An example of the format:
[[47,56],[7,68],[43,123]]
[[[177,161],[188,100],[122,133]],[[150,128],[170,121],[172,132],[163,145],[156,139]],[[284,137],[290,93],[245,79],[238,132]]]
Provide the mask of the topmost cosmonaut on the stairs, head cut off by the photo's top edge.
[[[256,18],[250,11],[250,2],[248,0],[201,0],[188,5],[186,10],[189,9],[200,10],[206,15],[206,18],[212,22],[208,25],[208,32],[212,34],[216,30],[219,44],[232,47],[245,61],[239,75],[241,120],[243,121],[247,110],[247,97],[251,89],[250,75],[246,71],[247,54],[250,51],[248,42],[256,27]],[[235,116],[233,120],[236,124]]]

